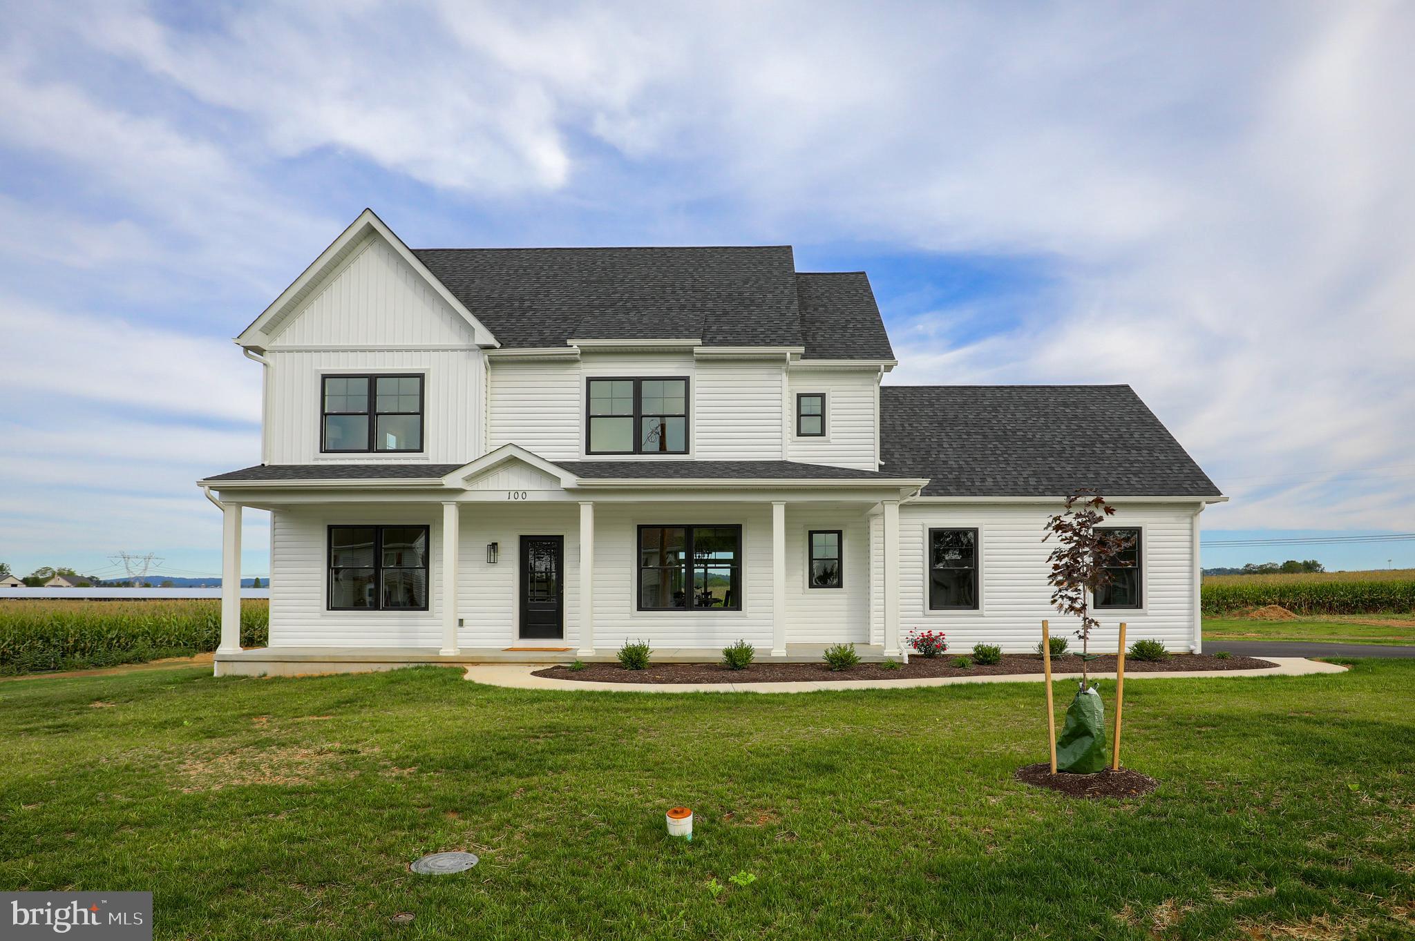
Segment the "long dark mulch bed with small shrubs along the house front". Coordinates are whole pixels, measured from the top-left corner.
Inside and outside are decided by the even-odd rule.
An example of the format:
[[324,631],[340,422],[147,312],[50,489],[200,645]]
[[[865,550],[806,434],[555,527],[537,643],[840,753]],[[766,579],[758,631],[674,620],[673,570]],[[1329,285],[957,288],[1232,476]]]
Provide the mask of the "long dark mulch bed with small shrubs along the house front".
[[[824,663],[754,663],[746,670],[729,670],[719,663],[659,663],[647,670],[625,670],[617,663],[590,663],[583,670],[569,667],[548,667],[536,670],[536,677],[556,680],[580,680],[586,682],[799,682],[819,680],[918,680],[923,677],[1000,677],[1015,674],[1040,674],[1041,657],[1037,654],[1003,654],[1002,663],[993,665],[952,665],[954,657],[910,657],[908,664],[899,670],[884,670],[877,663],[862,663],[850,670],[832,671]],[[1272,667],[1266,660],[1254,657],[1230,657],[1227,660],[1208,654],[1173,654],[1159,661],[1125,658],[1125,673],[1172,673],[1183,670],[1259,670]],[[1112,673],[1115,654],[1091,661],[1091,673]],[[1051,658],[1053,673],[1080,673],[1081,660],[1073,656]]]

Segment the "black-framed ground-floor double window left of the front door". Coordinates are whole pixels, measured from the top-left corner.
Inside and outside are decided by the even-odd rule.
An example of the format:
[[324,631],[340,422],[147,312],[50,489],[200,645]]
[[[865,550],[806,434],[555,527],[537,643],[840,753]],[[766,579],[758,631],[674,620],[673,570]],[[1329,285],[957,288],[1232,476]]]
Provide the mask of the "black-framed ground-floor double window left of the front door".
[[427,610],[426,526],[331,526],[330,610]]

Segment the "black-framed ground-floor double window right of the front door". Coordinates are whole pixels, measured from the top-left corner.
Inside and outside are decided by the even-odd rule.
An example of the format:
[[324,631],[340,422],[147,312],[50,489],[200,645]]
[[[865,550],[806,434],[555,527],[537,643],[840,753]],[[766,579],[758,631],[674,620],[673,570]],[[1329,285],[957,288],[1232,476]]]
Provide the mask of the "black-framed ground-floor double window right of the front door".
[[740,526],[638,527],[638,609],[741,610]]

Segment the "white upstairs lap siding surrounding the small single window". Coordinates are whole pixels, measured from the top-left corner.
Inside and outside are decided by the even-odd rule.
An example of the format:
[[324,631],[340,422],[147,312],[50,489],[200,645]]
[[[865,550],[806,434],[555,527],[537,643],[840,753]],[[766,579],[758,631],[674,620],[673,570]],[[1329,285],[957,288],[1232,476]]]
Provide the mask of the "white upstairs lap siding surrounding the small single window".
[[[874,400],[877,372],[792,372],[790,376],[788,454],[792,461],[874,470]],[[826,434],[799,438],[795,434],[797,396],[824,393]]]

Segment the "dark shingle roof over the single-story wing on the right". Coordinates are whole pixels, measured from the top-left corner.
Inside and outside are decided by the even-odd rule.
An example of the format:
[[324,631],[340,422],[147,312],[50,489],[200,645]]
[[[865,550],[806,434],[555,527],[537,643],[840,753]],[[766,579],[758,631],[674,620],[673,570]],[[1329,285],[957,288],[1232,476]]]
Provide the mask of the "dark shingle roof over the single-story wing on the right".
[[884,386],[880,451],[924,496],[1221,496],[1129,386]]

